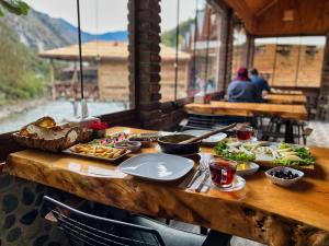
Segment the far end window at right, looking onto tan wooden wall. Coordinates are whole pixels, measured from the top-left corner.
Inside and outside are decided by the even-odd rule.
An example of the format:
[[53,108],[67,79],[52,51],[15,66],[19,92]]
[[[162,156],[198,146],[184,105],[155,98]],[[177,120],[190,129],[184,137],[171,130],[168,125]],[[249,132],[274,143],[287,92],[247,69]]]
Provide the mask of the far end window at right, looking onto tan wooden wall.
[[272,86],[319,87],[326,37],[257,38],[253,66]]

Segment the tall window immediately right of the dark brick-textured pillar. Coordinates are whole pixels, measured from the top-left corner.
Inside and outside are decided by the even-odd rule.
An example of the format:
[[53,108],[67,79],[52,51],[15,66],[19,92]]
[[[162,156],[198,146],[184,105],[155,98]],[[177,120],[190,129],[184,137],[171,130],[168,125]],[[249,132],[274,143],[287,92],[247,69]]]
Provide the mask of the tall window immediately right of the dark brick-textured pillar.
[[[179,20],[172,17],[173,10],[179,10]],[[166,0],[161,2],[161,20],[162,102],[216,91],[222,24],[218,7],[204,0]],[[169,58],[175,55],[177,32],[175,73],[175,59]]]

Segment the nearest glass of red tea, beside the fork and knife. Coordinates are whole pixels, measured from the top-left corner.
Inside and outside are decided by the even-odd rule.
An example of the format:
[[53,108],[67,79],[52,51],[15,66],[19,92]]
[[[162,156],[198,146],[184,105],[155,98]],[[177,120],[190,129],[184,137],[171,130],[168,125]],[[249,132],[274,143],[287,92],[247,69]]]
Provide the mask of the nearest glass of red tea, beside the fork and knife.
[[228,159],[213,159],[209,162],[209,171],[214,185],[228,188],[235,179],[237,162]]

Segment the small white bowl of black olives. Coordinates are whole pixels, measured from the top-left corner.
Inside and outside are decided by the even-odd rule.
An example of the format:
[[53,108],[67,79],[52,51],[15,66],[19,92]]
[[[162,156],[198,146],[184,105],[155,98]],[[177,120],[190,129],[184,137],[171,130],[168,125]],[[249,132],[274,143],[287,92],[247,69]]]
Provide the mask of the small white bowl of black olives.
[[290,187],[303,178],[304,173],[285,166],[277,166],[265,172],[266,177],[276,185]]

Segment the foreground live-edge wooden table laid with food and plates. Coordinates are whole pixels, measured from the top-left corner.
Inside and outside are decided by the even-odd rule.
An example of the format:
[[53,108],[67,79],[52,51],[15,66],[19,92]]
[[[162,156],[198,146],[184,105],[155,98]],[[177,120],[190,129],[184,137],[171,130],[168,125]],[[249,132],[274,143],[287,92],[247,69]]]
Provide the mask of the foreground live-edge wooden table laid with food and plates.
[[[111,128],[109,133],[123,129]],[[146,152],[157,150],[144,149]],[[213,150],[203,148],[202,152]],[[246,177],[245,189],[235,192],[216,188],[195,192],[179,186],[188,177],[154,183],[118,172],[118,163],[35,150],[10,154],[3,171],[91,201],[189,222],[271,246],[313,245],[316,241],[318,246],[325,246],[329,239],[329,149],[311,148],[311,152],[317,157],[316,171],[296,186],[273,185],[260,171]],[[93,175],[94,168],[102,168],[107,177]]]

